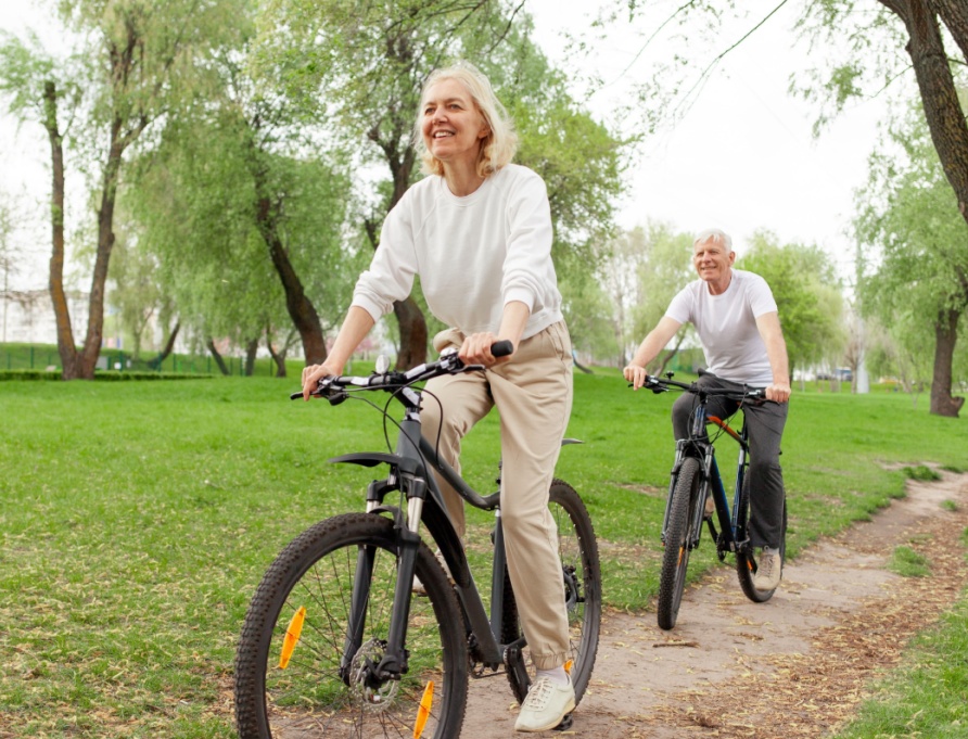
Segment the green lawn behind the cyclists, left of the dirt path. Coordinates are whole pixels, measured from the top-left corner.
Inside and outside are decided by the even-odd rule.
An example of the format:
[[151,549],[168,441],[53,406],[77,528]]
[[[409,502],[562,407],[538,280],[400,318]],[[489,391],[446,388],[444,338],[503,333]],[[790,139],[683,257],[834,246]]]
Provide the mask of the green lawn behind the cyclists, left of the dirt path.
[[[290,403],[296,384],[0,382],[0,736],[232,736],[233,650],[256,584],[298,532],[361,510],[379,472],[324,460],[385,448],[372,409]],[[585,444],[562,450],[558,473],[591,512],[608,603],[644,610],[674,397],[633,393],[616,370],[575,387],[570,435]],[[968,469],[965,423],[900,394],[795,395],[788,552],[903,496],[902,467]],[[722,444],[725,471],[735,445]],[[483,492],[497,447],[495,418],[464,444]],[[480,560],[491,517],[469,522]],[[708,540],[692,562],[693,575],[725,566]],[[965,629],[968,614],[951,621]]]

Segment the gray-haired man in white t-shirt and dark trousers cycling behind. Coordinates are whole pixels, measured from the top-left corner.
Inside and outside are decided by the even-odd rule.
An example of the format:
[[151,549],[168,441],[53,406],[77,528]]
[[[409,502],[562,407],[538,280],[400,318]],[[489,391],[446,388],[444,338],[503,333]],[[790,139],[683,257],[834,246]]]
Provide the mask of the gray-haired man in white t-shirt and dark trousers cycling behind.
[[[718,229],[700,233],[692,243],[692,264],[699,279],[686,285],[672,301],[665,316],[645,337],[625,368],[625,379],[638,390],[651,362],[687,321],[702,342],[708,374],[699,384],[742,390],[765,387],[774,403],[746,405],[750,432],[750,544],[762,548],[753,579],[757,590],[773,590],[780,583],[782,561],[779,546],[784,519],[784,474],[779,464],[780,438],[790,398],[787,344],[780,329],[776,301],[759,275],[734,269],[733,241]],[[691,395],[673,406],[676,439],[689,433]],[[723,416],[736,412],[737,404],[714,398],[711,410]]]

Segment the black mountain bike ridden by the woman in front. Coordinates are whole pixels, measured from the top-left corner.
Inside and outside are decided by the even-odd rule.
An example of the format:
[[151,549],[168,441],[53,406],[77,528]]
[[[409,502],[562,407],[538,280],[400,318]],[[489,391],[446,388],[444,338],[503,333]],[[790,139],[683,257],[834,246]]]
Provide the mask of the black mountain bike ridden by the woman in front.
[[[510,344],[505,353],[509,349]],[[497,355],[499,345],[492,351]],[[385,477],[369,483],[366,512],[310,527],[263,577],[235,658],[242,739],[450,739],[463,724],[469,676],[504,673],[519,701],[527,695],[533,671],[507,571],[500,494],[475,493],[421,435],[421,391],[415,383],[482,369],[445,353],[407,372],[382,367],[370,377],[320,382],[314,394],[332,405],[385,391],[404,406],[404,418],[391,419],[390,400],[379,408],[387,443],[386,423],[398,428],[395,451],[330,460],[389,467]],[[431,468],[470,505],[495,512],[489,617]],[[552,482],[549,507],[558,523],[571,633],[565,666],[581,700],[601,620],[598,548],[588,512],[570,485]],[[453,582],[422,540],[421,524]],[[425,595],[413,593],[415,575]]]

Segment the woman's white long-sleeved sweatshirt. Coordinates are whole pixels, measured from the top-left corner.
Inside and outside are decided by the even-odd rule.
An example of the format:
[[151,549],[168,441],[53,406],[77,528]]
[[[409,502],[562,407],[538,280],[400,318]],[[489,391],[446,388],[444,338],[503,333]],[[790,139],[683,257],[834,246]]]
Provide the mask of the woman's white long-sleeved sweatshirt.
[[552,235],[545,182],[526,167],[509,164],[466,198],[426,177],[386,216],[353,305],[379,320],[420,275],[428,306],[449,327],[496,333],[504,306],[520,301],[531,309],[528,339],[562,318]]

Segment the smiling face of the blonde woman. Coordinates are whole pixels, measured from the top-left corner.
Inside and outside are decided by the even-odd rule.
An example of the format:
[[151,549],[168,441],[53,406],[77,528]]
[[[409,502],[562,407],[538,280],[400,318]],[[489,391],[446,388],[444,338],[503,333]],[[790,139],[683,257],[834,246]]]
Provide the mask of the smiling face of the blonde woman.
[[489,128],[467,89],[456,79],[431,85],[423,95],[421,132],[428,151],[446,165],[476,166]]

